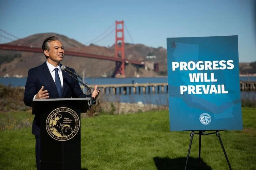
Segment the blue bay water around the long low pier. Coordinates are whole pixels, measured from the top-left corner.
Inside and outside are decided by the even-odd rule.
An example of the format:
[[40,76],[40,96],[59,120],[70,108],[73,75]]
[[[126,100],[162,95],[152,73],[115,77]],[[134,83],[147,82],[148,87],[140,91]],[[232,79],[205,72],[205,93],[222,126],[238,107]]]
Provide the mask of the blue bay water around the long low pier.
[[[256,81],[256,77],[240,77],[242,81]],[[27,78],[0,78],[0,84],[11,87],[25,87]],[[140,84],[140,83],[167,83],[167,77],[152,78],[86,78],[86,84]],[[118,88],[117,88],[118,89]],[[146,89],[147,91],[148,89]],[[138,91],[138,87],[137,87]],[[118,91],[117,91],[118,92]],[[166,88],[163,93],[131,94],[131,95],[102,95],[103,100],[112,102],[129,102],[143,104],[157,104],[168,106],[168,94]],[[241,92],[242,99],[256,100],[256,92]]]

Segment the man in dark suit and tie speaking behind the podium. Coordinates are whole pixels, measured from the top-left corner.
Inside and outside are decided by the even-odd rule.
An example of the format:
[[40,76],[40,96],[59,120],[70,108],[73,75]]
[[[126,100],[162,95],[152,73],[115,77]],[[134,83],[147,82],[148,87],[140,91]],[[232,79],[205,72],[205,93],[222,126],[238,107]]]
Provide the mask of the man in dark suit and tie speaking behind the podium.
[[[64,47],[59,38],[49,37],[43,42],[43,52],[46,62],[28,71],[25,86],[24,103],[32,106],[33,99],[49,98],[83,98],[89,95],[83,94],[79,83],[69,74],[60,69],[60,62],[64,57]],[[68,67],[67,67],[68,68]],[[74,69],[68,68],[75,72]],[[100,89],[97,85],[92,93],[93,103],[96,102]],[[35,115],[32,124],[32,134],[35,135],[35,157],[37,169],[40,169],[40,117]]]

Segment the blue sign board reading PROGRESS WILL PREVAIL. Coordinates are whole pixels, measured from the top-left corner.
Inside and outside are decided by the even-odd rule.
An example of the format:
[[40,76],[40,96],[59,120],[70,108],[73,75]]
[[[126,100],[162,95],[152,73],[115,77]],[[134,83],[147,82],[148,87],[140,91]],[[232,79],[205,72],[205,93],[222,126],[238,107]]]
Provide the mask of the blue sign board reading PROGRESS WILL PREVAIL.
[[171,131],[242,130],[238,36],[167,38]]

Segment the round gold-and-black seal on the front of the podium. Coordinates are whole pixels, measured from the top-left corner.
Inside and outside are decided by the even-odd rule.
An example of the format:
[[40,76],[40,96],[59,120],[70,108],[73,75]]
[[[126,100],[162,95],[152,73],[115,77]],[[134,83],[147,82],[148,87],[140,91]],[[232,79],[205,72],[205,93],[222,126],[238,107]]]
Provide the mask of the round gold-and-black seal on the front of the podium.
[[59,141],[73,138],[80,128],[77,114],[70,108],[60,107],[53,110],[46,119],[46,131]]

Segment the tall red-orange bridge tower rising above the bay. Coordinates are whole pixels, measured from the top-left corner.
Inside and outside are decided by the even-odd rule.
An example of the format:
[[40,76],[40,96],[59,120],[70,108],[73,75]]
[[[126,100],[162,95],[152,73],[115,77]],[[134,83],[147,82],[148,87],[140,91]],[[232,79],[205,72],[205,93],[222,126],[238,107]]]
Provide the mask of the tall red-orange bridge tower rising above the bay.
[[[124,37],[124,21],[115,21],[115,57],[122,58],[122,62],[116,62],[115,77],[125,78],[125,37]],[[122,28],[118,28],[122,26]]]

